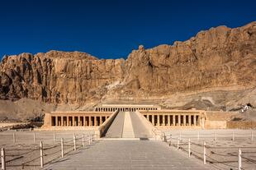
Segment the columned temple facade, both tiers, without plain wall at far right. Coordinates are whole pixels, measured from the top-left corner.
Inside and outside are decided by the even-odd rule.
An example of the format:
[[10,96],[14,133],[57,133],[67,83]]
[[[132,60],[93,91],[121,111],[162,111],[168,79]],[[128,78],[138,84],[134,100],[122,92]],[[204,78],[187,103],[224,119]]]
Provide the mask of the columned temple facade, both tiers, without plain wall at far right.
[[[139,112],[153,126],[204,128],[206,113],[202,110],[166,110],[155,105],[105,104],[92,112],[51,112],[45,113],[44,127],[92,128],[101,126],[113,113]],[[71,129],[73,129],[71,128]]]

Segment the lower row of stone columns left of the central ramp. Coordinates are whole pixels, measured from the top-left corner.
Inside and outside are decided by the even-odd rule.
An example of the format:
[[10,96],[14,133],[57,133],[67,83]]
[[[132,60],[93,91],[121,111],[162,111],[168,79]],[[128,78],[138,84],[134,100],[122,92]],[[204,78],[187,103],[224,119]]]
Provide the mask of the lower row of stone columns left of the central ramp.
[[110,115],[51,115],[50,126],[101,126]]

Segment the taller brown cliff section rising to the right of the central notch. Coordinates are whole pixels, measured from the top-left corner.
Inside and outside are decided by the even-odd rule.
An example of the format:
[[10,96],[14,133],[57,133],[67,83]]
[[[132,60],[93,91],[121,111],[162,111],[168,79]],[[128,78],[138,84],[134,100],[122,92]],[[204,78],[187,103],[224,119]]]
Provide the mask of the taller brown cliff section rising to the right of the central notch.
[[253,22],[235,29],[211,28],[173,46],[134,50],[126,61],[125,82],[136,82],[140,90],[151,94],[166,94],[217,86],[255,86],[255,75]]

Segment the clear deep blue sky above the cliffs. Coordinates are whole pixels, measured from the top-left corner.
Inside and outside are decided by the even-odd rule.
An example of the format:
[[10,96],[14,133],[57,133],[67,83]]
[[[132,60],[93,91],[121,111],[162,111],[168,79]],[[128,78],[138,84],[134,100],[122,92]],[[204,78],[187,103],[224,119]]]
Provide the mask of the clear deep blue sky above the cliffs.
[[127,57],[218,25],[256,21],[256,1],[1,0],[0,57],[51,49]]

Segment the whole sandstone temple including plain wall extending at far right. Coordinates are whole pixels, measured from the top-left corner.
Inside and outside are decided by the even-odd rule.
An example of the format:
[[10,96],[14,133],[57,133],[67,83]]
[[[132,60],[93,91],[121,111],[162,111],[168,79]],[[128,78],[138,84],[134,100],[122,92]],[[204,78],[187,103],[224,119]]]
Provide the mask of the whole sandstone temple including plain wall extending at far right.
[[[85,130],[98,131],[101,136],[122,114],[137,115],[135,121],[144,124],[150,131],[161,129],[214,129],[229,128],[236,113],[210,112],[204,110],[172,110],[157,104],[102,103],[93,111],[70,111],[45,113],[43,130]],[[118,116],[119,115],[119,116]],[[123,116],[123,119],[125,116]],[[117,120],[116,120],[117,121]]]

